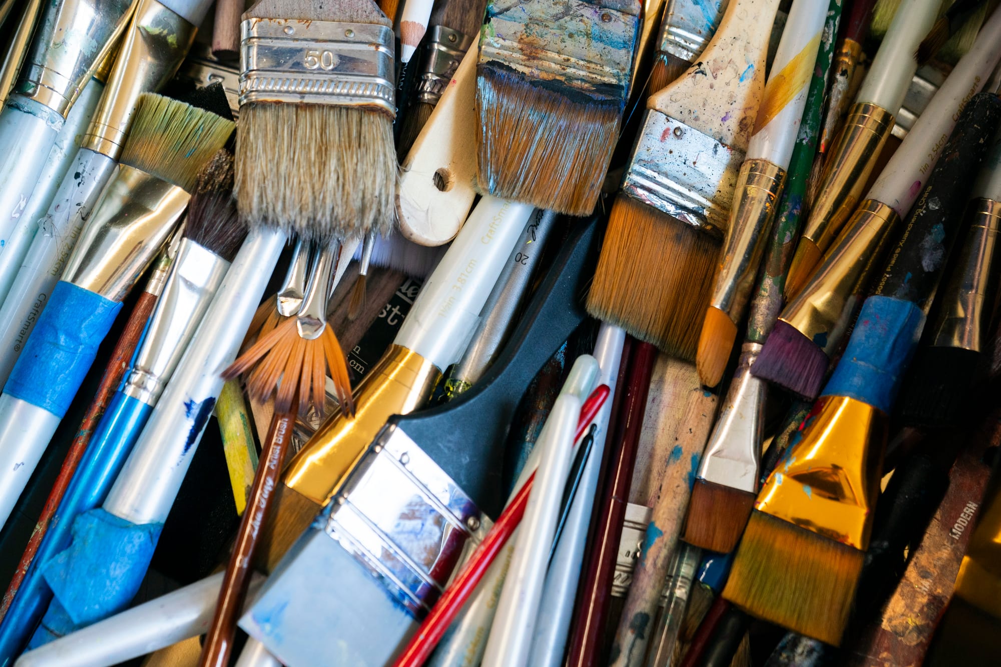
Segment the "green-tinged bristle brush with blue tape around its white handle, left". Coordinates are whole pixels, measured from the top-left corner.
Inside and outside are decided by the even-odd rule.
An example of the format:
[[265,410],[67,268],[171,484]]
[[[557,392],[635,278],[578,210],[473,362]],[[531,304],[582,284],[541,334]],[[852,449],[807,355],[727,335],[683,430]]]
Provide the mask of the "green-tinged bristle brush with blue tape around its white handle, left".
[[0,504],[4,521],[122,299],[184,212],[198,169],[232,128],[232,121],[184,102],[151,93],[140,99],[118,174],[81,233],[0,397],[0,411],[10,418],[0,443],[6,443],[12,462]]

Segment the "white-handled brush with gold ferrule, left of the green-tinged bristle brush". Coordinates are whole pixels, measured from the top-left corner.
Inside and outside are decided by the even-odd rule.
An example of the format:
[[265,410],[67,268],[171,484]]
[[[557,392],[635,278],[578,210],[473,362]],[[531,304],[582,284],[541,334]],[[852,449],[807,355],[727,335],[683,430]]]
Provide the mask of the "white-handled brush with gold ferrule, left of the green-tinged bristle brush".
[[0,381],[7,381],[84,222],[116,173],[139,96],[155,92],[170,80],[208,5],[209,0],[140,0],[136,5],[104,94],[66,170],[69,177],[47,206],[40,230],[0,307]]

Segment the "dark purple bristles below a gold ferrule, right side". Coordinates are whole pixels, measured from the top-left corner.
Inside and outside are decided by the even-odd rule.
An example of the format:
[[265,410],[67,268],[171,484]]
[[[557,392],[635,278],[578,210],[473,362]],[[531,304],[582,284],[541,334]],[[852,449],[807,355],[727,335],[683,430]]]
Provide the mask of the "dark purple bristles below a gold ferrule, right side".
[[813,401],[820,393],[828,361],[820,346],[780,319],[768,335],[751,374]]

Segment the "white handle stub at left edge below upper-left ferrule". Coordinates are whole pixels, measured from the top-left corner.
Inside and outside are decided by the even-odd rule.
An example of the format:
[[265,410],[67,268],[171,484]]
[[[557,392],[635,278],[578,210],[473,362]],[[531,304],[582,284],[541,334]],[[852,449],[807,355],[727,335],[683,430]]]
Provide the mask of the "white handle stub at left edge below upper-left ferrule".
[[62,125],[58,113],[20,95],[0,112],[0,243],[17,226]]

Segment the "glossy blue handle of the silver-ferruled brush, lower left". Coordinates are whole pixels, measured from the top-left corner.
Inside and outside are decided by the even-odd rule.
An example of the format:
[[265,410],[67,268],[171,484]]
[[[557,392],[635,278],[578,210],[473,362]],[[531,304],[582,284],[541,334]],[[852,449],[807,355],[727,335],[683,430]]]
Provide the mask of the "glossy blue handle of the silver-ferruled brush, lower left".
[[10,664],[21,652],[52,599],[42,569],[70,546],[73,520],[104,502],[152,410],[151,406],[121,392],[111,397],[24,581],[0,623],[0,666]]

